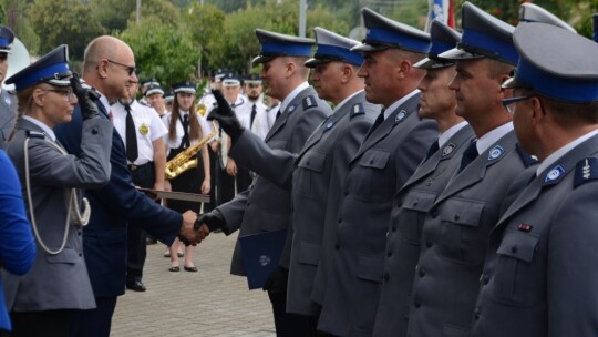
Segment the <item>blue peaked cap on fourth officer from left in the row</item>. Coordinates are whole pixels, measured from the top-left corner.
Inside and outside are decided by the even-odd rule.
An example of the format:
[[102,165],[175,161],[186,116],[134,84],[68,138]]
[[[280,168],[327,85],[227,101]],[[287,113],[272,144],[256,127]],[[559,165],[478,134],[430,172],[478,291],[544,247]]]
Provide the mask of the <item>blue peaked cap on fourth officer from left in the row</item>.
[[432,43],[427,51],[427,58],[413,64],[413,67],[420,69],[436,69],[455,64],[451,60],[439,58],[439,54],[455,48],[461,41],[461,34],[441,21],[434,20],[430,28],[430,38]]

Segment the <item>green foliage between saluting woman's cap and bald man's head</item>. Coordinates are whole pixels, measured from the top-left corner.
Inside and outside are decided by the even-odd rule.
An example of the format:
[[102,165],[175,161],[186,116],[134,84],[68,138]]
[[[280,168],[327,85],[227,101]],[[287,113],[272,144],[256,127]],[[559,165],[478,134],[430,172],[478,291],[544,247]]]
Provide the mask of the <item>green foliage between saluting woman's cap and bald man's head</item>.
[[35,0],[29,10],[29,20],[35,34],[43,37],[39,54],[68,43],[71,58],[81,60],[87,42],[104,33],[87,4],[80,1]]

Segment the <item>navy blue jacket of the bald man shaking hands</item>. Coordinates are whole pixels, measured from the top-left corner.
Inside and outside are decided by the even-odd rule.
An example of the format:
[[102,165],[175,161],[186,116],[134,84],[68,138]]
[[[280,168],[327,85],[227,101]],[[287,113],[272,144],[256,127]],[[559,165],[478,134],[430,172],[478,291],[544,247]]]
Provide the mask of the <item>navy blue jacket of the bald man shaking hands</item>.
[[[97,104],[100,118],[107,119],[102,104]],[[81,153],[82,118],[79,106],[70,123],[54,127],[56,139],[69,151]],[[166,245],[175,239],[183,216],[164,208],[138,192],[126,166],[123,141],[117,132],[112,135],[110,155],[112,172],[110,183],[100,190],[90,190],[85,196],[92,212],[83,229],[83,253],[95,297],[113,297],[124,294],[126,274],[126,226],[140,224],[144,231]]]

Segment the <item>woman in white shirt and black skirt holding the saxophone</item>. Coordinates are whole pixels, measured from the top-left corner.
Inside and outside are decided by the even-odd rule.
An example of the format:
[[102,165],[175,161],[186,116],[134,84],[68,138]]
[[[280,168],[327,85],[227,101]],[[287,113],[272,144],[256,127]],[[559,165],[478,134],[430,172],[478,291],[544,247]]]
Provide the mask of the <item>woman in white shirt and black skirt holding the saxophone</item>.
[[[171,161],[177,154],[185,151],[204,136],[210,133],[210,126],[207,121],[196,113],[195,106],[195,83],[183,82],[173,85],[175,94],[173,101],[173,110],[166,114],[163,120],[168,127],[166,139],[166,160]],[[202,150],[192,156],[197,159],[197,166],[192,167],[175,178],[171,178],[171,188],[175,192],[202,193],[208,194],[210,190],[210,172],[209,156],[207,147],[204,145]],[[199,213],[202,204],[188,201],[168,201],[168,208],[184,213],[192,210]],[[178,239],[169,247],[171,249],[171,272],[178,272]],[[193,263],[193,246],[185,247],[185,264],[186,272],[197,272]]]

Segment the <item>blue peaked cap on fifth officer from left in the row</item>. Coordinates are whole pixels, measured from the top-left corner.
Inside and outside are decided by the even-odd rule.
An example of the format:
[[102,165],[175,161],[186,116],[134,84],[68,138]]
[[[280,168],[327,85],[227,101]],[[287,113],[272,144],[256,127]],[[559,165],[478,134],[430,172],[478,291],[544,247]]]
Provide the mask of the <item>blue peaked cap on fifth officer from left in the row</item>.
[[463,3],[463,34],[456,48],[440,54],[447,60],[491,58],[517,64],[519,55],[513,45],[515,28],[503,22],[471,2]]

